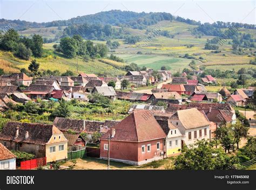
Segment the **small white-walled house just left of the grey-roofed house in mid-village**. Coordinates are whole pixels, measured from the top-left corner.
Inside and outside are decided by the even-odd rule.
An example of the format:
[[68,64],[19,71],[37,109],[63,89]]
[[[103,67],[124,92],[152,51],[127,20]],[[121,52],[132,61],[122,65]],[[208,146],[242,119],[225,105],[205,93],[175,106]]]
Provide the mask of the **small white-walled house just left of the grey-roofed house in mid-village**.
[[66,97],[70,99],[82,99],[87,100],[87,96],[90,93],[86,92],[86,88],[82,86],[60,86],[60,88],[65,93]]

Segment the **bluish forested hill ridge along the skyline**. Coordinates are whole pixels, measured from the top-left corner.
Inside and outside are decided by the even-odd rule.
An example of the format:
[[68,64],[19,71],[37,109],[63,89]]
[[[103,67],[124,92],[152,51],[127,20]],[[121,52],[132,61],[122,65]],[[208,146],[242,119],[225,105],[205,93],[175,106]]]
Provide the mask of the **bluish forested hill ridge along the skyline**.
[[[181,17],[176,17],[171,15],[171,13],[166,12],[132,12],[132,11],[120,11],[111,10],[99,12],[94,15],[79,16],[76,18],[71,18],[68,20],[56,20],[48,23],[36,23],[36,22],[26,22],[24,20],[6,20],[0,19],[0,29],[4,29],[6,26],[11,26],[15,30],[26,30],[29,28],[38,27],[51,27],[51,26],[71,26],[76,24],[110,24],[113,26],[125,26],[131,27],[132,29],[145,29],[147,26],[154,25],[161,20],[176,20],[178,22],[183,22],[191,25],[201,25],[200,22],[191,19],[184,19]],[[246,29],[255,29],[255,25],[251,24],[241,24],[241,23],[224,23],[217,22],[211,24],[217,28],[227,28],[231,26],[244,27]]]

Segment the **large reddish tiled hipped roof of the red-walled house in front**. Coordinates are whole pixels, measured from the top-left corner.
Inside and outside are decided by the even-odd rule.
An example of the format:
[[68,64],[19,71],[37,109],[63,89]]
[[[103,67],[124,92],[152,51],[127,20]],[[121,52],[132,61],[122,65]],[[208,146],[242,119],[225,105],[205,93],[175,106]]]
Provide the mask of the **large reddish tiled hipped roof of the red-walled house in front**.
[[[161,129],[156,119],[152,115],[147,117],[147,120],[145,117],[146,110],[132,112],[132,114],[124,118],[120,123],[113,126],[112,129],[115,129],[116,133],[111,140],[146,142],[166,138],[165,132]],[[111,136],[112,129],[107,131],[100,139],[107,139],[109,134]]]

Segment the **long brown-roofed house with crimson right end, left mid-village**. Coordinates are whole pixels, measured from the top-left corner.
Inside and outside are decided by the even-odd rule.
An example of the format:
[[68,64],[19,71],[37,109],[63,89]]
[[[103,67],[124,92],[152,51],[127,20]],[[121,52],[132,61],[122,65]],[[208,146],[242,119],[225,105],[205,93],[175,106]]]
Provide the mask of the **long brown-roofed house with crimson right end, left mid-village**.
[[[58,92],[58,95],[55,95]],[[62,90],[55,89],[52,85],[36,85],[31,84],[23,93],[26,94],[31,99],[48,99],[50,97],[60,98],[59,94],[63,95]]]

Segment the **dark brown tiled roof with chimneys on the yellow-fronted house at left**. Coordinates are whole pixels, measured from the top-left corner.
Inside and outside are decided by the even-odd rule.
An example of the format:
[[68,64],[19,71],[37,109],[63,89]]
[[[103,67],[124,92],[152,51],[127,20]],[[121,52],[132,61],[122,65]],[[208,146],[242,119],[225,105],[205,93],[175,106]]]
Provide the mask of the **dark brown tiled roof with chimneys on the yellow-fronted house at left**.
[[[16,128],[19,128],[17,138],[15,138]],[[28,138],[25,138],[26,131],[29,133]],[[50,124],[8,122],[0,133],[0,139],[12,140],[16,143],[23,142],[45,145],[49,142],[53,134],[60,133],[62,132],[60,132],[56,126]],[[62,141],[65,140],[66,139],[63,139]]]

